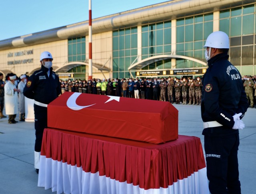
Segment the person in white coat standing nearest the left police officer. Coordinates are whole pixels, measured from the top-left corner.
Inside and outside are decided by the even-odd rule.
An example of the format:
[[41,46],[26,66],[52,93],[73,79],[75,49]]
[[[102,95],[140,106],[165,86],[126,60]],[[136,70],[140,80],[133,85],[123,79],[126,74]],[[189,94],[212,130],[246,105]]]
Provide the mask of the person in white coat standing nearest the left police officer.
[[19,92],[19,108],[20,108],[20,121],[25,121],[25,96],[23,95],[23,89],[26,86],[26,75],[20,76],[20,83],[18,84]]

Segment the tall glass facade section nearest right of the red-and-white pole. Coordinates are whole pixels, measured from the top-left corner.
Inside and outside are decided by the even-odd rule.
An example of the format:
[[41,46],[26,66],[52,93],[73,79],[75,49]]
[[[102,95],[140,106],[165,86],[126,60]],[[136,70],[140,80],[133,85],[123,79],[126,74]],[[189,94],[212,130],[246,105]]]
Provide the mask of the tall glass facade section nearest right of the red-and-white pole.
[[[112,33],[113,78],[128,78],[128,67],[138,56],[138,29],[130,27]],[[132,72],[135,76],[135,72]]]

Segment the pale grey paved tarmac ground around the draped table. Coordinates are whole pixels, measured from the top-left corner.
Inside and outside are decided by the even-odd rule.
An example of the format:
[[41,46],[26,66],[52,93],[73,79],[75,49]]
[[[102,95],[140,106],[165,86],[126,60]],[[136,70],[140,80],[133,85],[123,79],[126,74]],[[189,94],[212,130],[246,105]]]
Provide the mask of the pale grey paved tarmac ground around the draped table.
[[[179,111],[179,135],[200,137],[204,147],[200,106],[174,106]],[[238,150],[241,189],[242,194],[256,194],[256,109],[248,108],[243,121]],[[0,194],[52,194],[37,186],[34,141],[34,122],[8,124],[8,118],[0,119]]]

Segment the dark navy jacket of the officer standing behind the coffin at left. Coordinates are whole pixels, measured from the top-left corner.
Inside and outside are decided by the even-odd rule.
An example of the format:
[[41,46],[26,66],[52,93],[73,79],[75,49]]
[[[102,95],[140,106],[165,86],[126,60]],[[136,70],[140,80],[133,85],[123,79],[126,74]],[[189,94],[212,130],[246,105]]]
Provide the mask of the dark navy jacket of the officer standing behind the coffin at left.
[[35,71],[29,78],[24,88],[23,94],[27,98],[38,102],[49,104],[61,93],[60,79],[58,74],[50,68],[50,75],[47,75],[48,69],[41,66],[41,69]]

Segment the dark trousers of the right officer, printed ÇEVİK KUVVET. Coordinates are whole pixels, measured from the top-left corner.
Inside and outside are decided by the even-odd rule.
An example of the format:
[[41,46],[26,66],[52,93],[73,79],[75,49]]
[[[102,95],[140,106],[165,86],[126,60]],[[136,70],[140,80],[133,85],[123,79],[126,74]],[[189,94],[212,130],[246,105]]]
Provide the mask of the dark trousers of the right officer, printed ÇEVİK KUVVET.
[[[214,130],[216,127],[212,127]],[[235,130],[235,129],[224,129]],[[211,194],[241,194],[238,172],[239,133],[204,135],[207,178]]]

